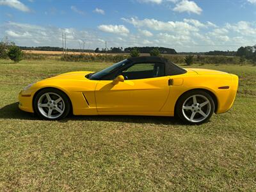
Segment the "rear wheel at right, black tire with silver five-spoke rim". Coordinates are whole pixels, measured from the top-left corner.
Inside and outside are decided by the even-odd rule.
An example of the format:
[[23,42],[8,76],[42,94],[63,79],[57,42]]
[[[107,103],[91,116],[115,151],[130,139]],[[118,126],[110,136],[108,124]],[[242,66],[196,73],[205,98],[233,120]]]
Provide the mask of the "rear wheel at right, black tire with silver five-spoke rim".
[[[196,102],[197,106],[195,106],[195,102],[193,102],[194,97],[198,98],[196,100],[199,100],[199,102]],[[204,105],[205,103],[207,104],[205,104],[204,106],[200,106],[200,100],[205,100],[205,102],[201,103],[202,105]],[[207,102],[207,100],[209,102]],[[180,96],[175,106],[175,116],[179,117],[179,119],[186,124],[204,124],[205,122],[209,121],[212,114],[214,113],[214,109],[214,100],[209,93],[205,92],[204,90],[191,90]],[[201,115],[201,113],[206,116]],[[191,114],[190,118],[189,114]],[[195,119],[191,118],[192,116]]]

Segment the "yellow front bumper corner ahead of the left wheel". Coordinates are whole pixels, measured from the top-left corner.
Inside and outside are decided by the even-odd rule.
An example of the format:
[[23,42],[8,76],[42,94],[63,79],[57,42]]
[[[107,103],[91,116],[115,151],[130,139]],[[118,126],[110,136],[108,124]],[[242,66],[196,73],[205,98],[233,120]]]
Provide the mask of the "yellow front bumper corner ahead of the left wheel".
[[22,111],[34,113],[32,102],[33,96],[31,95],[31,93],[26,91],[21,91],[19,93],[19,108]]

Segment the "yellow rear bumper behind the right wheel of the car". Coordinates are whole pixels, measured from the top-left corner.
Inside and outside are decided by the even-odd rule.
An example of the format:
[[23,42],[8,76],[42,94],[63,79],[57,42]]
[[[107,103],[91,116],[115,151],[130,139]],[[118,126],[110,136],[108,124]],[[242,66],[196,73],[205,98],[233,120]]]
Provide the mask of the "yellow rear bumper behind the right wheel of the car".
[[234,74],[230,74],[232,81],[230,83],[230,88],[228,90],[220,90],[221,95],[225,96],[219,102],[219,108],[216,113],[225,113],[230,108],[232,108],[234,101],[236,99],[236,93],[238,88],[238,77]]

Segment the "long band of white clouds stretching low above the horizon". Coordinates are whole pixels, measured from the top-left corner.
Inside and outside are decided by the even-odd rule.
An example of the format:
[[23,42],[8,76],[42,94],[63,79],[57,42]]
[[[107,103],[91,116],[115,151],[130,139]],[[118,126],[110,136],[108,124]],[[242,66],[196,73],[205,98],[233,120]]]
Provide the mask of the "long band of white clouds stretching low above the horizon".
[[[149,20],[149,21],[148,21]],[[237,22],[226,24],[218,28],[199,27],[198,22],[190,19],[172,22],[163,22],[153,19],[128,19],[138,28],[138,31],[128,32],[127,28],[119,25],[102,25],[101,30],[107,33],[95,33],[95,30],[80,31],[75,28],[58,28],[55,26],[36,26],[31,24],[6,22],[1,25],[3,36],[23,46],[62,46],[62,33],[66,34],[67,47],[79,49],[79,42],[86,40],[86,49],[100,49],[108,41],[109,47],[130,47],[154,45],[171,47],[176,51],[212,51],[237,50],[244,45],[254,45],[256,40],[256,24],[254,22]],[[179,23],[180,22],[180,23]],[[207,22],[200,22],[208,27]],[[154,25],[156,25],[155,29]],[[196,27],[197,25],[198,27]],[[150,29],[148,29],[150,28]],[[153,31],[155,30],[155,31]],[[247,33],[244,33],[244,31]],[[150,36],[153,34],[154,36]],[[144,35],[143,35],[144,34]],[[254,35],[253,35],[254,34]],[[219,46],[220,45],[220,46]],[[233,45],[230,47],[230,45]],[[234,46],[237,45],[237,46]]]

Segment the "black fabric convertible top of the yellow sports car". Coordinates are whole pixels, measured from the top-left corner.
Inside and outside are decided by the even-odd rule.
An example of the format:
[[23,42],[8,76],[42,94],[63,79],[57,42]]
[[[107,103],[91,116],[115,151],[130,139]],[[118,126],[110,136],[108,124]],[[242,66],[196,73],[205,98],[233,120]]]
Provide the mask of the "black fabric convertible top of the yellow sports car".
[[175,76],[180,74],[185,74],[187,71],[184,68],[180,68],[178,65],[175,65],[172,61],[168,61],[166,58],[161,58],[157,56],[140,56],[134,58],[128,58],[132,63],[164,63],[165,65],[165,75],[166,76]]

